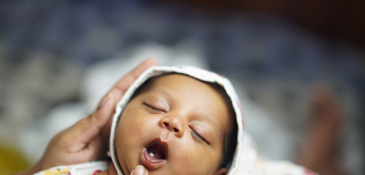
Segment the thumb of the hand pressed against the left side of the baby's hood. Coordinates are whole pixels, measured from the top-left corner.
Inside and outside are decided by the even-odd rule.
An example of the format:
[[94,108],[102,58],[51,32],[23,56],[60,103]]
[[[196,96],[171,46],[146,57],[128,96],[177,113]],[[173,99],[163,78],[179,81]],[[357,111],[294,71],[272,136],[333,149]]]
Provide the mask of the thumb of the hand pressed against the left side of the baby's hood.
[[[68,138],[70,141],[88,144],[100,133],[101,128],[115,113],[115,100],[113,93],[109,93],[100,103],[95,112],[81,119],[69,128]],[[80,148],[79,148],[80,149]]]

